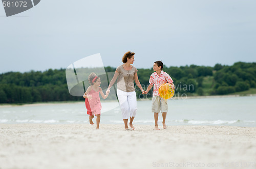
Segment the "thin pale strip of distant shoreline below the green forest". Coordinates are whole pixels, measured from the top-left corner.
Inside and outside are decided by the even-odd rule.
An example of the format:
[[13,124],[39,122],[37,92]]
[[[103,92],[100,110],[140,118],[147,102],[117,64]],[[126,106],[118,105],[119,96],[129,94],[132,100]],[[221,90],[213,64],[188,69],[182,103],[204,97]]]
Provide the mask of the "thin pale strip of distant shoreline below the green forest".
[[[229,97],[244,97],[256,96],[256,94],[242,94],[242,95],[217,95],[217,96],[187,96],[179,97],[171,100],[185,100],[185,99],[204,99],[204,98],[229,98]],[[137,99],[138,101],[146,101],[151,99]],[[43,106],[43,105],[56,105],[56,104],[74,104],[83,103],[84,101],[53,101],[53,102],[40,102],[40,103],[24,103],[24,104],[0,104],[0,108],[13,107],[13,106]],[[105,101],[102,101],[105,102]]]

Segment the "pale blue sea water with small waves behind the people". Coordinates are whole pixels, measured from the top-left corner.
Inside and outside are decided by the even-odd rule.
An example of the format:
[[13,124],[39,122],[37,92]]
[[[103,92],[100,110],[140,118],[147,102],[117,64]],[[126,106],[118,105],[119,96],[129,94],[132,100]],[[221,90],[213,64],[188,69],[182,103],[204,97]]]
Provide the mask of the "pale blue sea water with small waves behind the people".
[[[118,102],[101,102],[101,124],[123,124]],[[137,101],[134,125],[154,125],[151,100]],[[93,119],[96,122],[96,117]],[[162,114],[159,113],[159,125]],[[84,102],[0,106],[0,124],[89,123]],[[256,96],[169,99],[166,125],[256,127]]]

